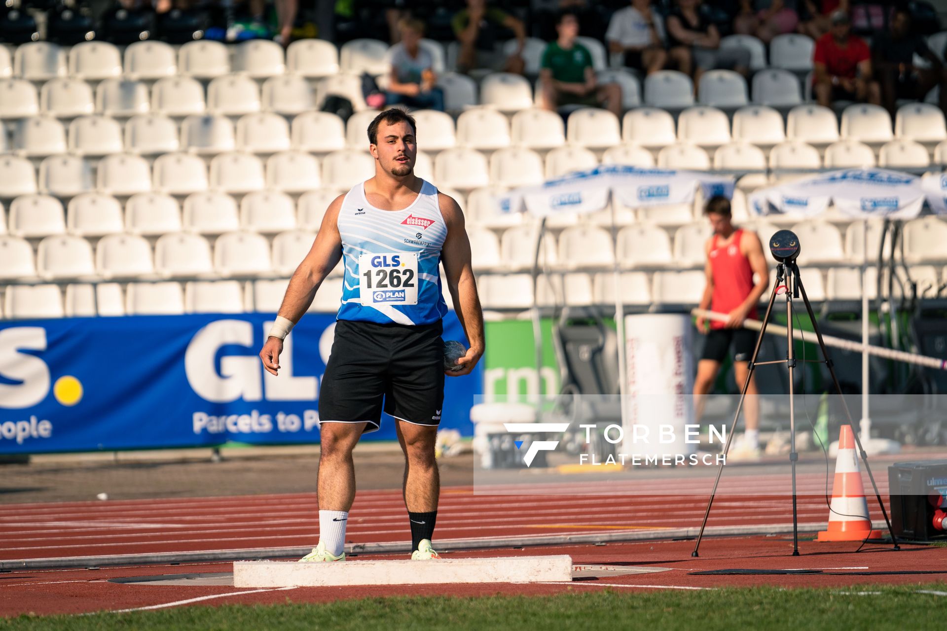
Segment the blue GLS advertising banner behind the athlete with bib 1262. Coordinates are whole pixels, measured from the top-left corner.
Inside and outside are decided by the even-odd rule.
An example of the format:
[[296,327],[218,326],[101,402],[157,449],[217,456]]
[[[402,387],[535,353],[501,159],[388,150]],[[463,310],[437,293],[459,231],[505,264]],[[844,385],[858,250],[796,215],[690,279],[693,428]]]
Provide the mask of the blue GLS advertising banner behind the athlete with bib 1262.
[[[259,349],[272,314],[0,323],[0,453],[319,440],[319,384],[335,316],[308,313],[275,377]],[[465,341],[454,312],[445,340]],[[482,367],[447,377],[440,427],[473,434]],[[394,420],[366,438],[396,438]]]

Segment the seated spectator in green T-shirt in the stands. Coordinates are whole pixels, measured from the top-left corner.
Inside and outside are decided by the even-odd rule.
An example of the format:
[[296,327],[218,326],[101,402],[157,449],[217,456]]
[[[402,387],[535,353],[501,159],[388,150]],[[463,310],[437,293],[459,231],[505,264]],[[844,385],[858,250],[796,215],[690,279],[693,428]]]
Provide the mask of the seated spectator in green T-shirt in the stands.
[[592,65],[592,53],[576,42],[579,18],[564,10],[556,25],[559,39],[546,45],[540,69],[543,105],[555,111],[561,105],[585,105],[608,109],[621,115],[621,88],[617,83],[598,84]]

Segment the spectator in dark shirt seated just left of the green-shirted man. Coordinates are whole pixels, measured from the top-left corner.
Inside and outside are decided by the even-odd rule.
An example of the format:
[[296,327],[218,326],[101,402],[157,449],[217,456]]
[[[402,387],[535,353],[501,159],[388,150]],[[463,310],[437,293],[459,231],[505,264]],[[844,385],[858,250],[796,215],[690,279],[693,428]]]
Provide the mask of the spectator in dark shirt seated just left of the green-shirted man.
[[[467,73],[474,68],[490,68],[523,74],[527,31],[521,20],[503,9],[488,7],[486,0],[467,0],[467,8],[456,12],[451,26],[460,42],[457,70]],[[501,29],[509,29],[516,36],[516,50],[509,57],[497,51]]]

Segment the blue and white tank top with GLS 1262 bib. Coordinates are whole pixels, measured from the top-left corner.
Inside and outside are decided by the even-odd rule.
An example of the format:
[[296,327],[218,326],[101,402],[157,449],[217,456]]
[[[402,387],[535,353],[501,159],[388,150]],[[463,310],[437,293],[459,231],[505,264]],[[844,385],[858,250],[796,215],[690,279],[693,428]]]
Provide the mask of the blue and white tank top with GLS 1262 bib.
[[447,313],[438,274],[447,225],[434,184],[421,180],[420,194],[403,210],[375,208],[365,183],[356,184],[338,228],[346,268],[339,320],[432,324]]

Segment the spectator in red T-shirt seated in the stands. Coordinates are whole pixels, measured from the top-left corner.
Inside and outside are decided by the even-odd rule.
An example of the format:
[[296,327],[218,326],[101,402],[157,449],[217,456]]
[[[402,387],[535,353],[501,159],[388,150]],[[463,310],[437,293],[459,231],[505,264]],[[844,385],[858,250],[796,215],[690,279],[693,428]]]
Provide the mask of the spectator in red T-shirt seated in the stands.
[[831,15],[831,31],[815,43],[813,92],[819,105],[849,100],[881,103],[878,82],[872,80],[868,44],[851,34],[849,16],[842,11]]

